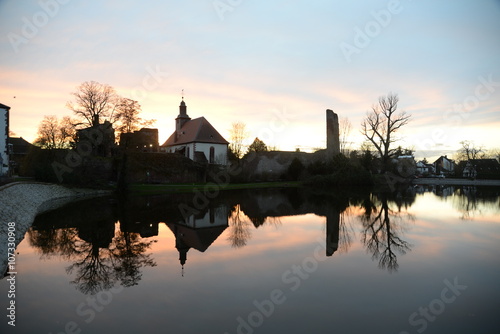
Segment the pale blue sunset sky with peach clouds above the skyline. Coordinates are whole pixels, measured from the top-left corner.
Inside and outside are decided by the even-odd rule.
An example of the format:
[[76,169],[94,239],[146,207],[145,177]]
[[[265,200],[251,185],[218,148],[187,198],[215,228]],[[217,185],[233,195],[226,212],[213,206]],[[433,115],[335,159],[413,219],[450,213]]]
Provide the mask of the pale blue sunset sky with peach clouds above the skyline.
[[325,110],[361,122],[395,93],[417,157],[499,148],[499,0],[0,0],[0,103],[32,141],[85,81],[174,131],[181,92],[229,140],[244,122],[281,150],[326,146]]

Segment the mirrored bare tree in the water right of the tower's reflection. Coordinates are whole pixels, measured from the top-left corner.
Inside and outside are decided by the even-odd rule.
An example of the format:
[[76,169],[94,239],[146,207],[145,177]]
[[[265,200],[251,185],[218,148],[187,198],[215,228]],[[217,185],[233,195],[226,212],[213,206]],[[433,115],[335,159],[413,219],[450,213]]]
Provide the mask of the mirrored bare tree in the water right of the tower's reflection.
[[[399,205],[397,205],[400,207]],[[400,236],[406,220],[413,220],[409,213],[390,208],[386,195],[379,199],[372,197],[364,202],[364,213],[361,215],[363,230],[361,240],[372,259],[379,261],[379,268],[389,272],[399,268],[397,253],[406,254],[411,245]]]

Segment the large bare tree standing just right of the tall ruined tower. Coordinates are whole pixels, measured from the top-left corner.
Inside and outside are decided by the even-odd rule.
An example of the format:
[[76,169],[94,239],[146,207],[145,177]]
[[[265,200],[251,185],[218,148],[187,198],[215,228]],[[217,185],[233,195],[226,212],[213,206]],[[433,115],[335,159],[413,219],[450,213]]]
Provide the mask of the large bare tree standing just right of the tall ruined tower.
[[408,124],[411,118],[405,111],[397,112],[398,102],[397,94],[379,97],[378,104],[372,106],[372,111],[367,113],[361,123],[361,133],[379,153],[383,170],[394,153],[391,145],[398,140],[395,133]]

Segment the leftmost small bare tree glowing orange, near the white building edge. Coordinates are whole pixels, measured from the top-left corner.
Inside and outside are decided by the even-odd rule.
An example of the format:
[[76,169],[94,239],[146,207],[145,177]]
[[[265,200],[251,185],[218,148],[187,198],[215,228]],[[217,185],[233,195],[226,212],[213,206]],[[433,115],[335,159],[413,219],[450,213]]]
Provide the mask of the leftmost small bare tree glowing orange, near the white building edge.
[[40,122],[35,143],[46,149],[69,148],[74,137],[75,127],[69,116],[59,120],[51,115]]

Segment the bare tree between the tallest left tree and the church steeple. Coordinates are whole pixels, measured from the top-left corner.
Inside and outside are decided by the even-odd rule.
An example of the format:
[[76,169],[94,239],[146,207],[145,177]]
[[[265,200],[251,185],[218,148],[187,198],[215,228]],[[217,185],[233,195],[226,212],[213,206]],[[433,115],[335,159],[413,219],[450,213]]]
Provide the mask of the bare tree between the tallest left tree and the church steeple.
[[141,127],[153,125],[156,120],[145,120],[139,116],[141,112],[141,105],[139,102],[123,98],[116,107],[115,113],[115,131],[117,137],[121,133],[130,133],[139,130]]

